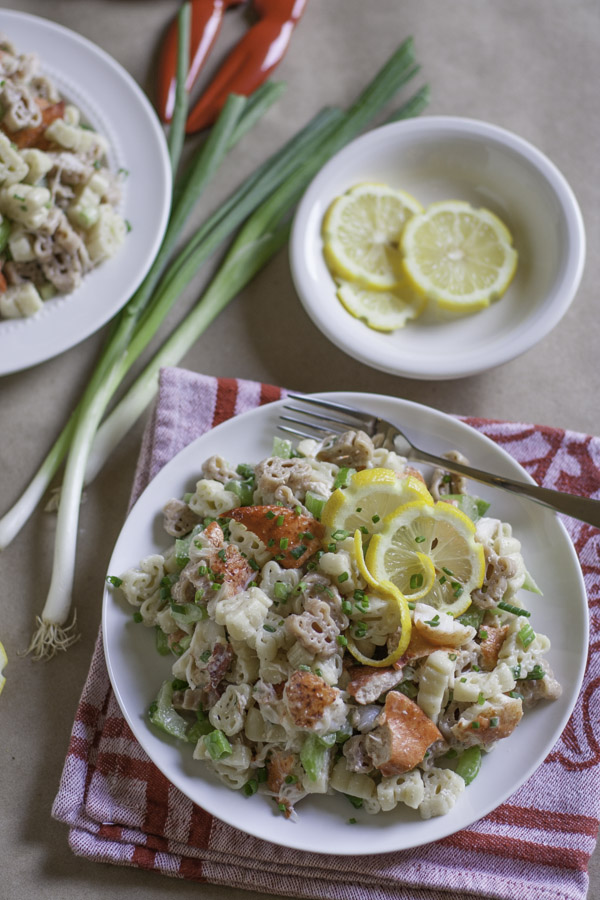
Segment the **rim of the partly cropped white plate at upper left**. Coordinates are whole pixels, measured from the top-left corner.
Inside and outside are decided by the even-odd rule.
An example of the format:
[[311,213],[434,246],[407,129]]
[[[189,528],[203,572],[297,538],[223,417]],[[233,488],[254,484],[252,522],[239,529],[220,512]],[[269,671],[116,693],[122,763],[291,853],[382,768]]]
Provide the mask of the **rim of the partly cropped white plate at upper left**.
[[[13,320],[0,320],[0,377],[12,375],[33,366],[37,366],[78,346],[86,340],[86,338],[99,331],[123,308],[146,277],[162,243],[168,225],[172,197],[171,165],[163,128],[149,98],[125,67],[106,50],[89,38],[65,25],[54,22],[51,19],[15,9],[0,9],[0,28],[7,35],[9,40],[13,39],[13,36],[10,33],[11,23],[17,23],[21,28],[36,29],[37,33],[42,36],[47,33],[58,34],[61,40],[70,42],[72,45],[77,45],[86,53],[92,54],[99,65],[106,70],[110,69],[113,76],[117,77],[119,81],[127,87],[129,91],[128,96],[130,99],[135,100],[136,106],[138,107],[138,115],[141,115],[147,127],[145,140],[147,141],[150,137],[152,137],[153,140],[153,154],[155,155],[155,159],[153,160],[155,169],[153,171],[154,176],[157,179],[156,188],[160,192],[157,195],[160,198],[160,202],[157,203],[156,209],[153,210],[153,217],[157,224],[153,234],[150,235],[150,238],[145,242],[144,254],[143,257],[140,257],[140,264],[137,268],[133,268],[130,272],[126,273],[127,282],[124,287],[121,290],[114,291],[115,295],[119,298],[118,302],[103,304],[98,300],[97,308],[93,310],[91,316],[84,316],[83,312],[77,310],[76,306],[75,309],[78,313],[77,319],[79,321],[75,329],[74,337],[73,333],[69,331],[68,325],[65,327],[65,322],[61,321],[61,318],[65,315],[67,323],[69,321],[69,311],[65,314],[64,307],[62,309],[61,307],[58,307],[56,309],[48,310],[46,315],[37,321],[35,316],[31,317],[31,321],[29,321],[29,317]],[[20,43],[23,43],[22,38],[19,40]],[[20,44],[17,46],[17,49],[19,52],[28,52],[30,50],[28,47],[21,47]],[[42,70],[44,69],[44,66],[47,65],[49,68],[56,69],[57,74],[62,75],[63,72],[66,72],[65,80],[74,79],[73,75],[69,75],[68,66],[66,69],[64,67],[56,66],[54,63],[51,63],[48,59],[44,58],[43,52],[35,52],[37,52],[40,57]],[[90,97],[90,91],[85,89],[83,93],[84,99],[87,100]],[[92,96],[88,105],[90,109],[98,110],[101,113],[103,119],[111,126],[110,130],[115,133],[117,138],[120,138],[122,129],[119,129],[113,123],[111,111],[106,103],[99,105],[96,102],[95,97]],[[116,148],[112,145],[110,149],[113,152],[116,151]],[[126,246],[122,247],[121,250],[122,252],[127,252]],[[117,258],[118,257],[115,257],[115,260],[113,261],[116,261]],[[110,265],[110,262],[111,260],[108,260],[106,264]],[[102,269],[99,268],[98,272],[101,271]],[[94,274],[95,272],[92,271],[88,273],[88,276],[93,278]],[[88,276],[83,279],[82,285],[77,291],[72,295],[60,295],[58,298],[59,301],[63,304],[69,304],[69,309],[71,308],[71,303],[74,302],[77,304],[78,300],[81,298],[77,298],[76,295],[79,293],[79,290],[85,288]],[[112,286],[109,287],[113,290]],[[86,299],[88,298],[84,298],[84,302]],[[52,323],[53,320],[57,323],[55,328],[58,329],[58,332],[51,340],[48,340],[48,323]],[[3,329],[4,325],[12,326],[12,328]],[[15,328],[19,329],[19,334],[23,335],[22,340],[15,340]]]

